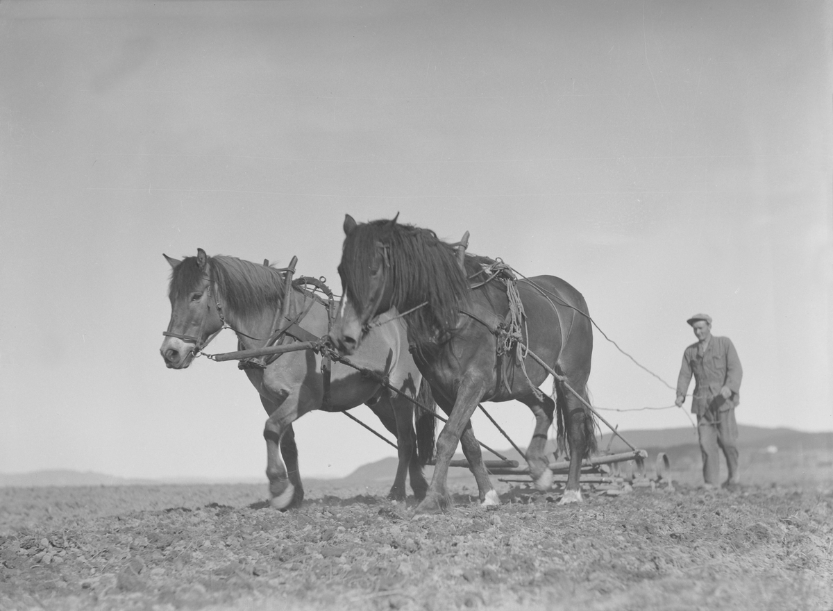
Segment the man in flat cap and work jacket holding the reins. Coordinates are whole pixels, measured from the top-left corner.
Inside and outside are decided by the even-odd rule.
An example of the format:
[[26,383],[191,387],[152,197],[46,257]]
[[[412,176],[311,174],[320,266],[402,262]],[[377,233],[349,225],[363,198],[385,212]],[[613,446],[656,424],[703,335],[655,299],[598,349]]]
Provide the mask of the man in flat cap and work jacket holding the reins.
[[691,413],[697,415],[697,433],[703,454],[703,478],[706,488],[715,488],[720,481],[721,463],[718,447],[726,456],[729,478],[725,488],[736,488],[740,482],[737,470],[737,423],[735,408],[740,403],[743,370],[735,346],[729,338],[711,334],[711,316],[695,314],[689,318],[697,338],[683,353],[680,376],[677,378],[676,405],[681,407],[694,374]]

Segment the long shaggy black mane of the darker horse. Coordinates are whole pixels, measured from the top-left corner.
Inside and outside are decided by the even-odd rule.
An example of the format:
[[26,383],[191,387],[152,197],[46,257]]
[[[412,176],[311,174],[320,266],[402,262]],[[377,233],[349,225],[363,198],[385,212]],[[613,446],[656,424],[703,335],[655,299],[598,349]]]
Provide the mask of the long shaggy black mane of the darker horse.
[[379,243],[388,247],[392,305],[404,312],[428,303],[407,316],[412,339],[419,345],[451,333],[461,308],[469,302],[467,276],[481,270],[481,260],[491,259],[466,255],[464,273],[454,247],[437,238],[431,229],[388,220],[362,223],[345,238],[339,268],[348,297],[354,303],[367,304],[367,269],[372,268]]

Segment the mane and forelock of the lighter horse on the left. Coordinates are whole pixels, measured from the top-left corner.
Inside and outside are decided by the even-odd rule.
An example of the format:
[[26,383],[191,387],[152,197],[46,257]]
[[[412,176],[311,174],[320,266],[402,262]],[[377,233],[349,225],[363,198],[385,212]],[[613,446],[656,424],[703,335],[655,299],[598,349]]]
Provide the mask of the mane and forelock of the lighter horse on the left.
[[[237,257],[216,255],[207,259],[211,280],[222,296],[227,313],[246,318],[274,308],[283,298],[284,279],[271,265],[260,265]],[[172,300],[187,297],[204,277],[197,257],[186,257],[173,268],[168,294]]]

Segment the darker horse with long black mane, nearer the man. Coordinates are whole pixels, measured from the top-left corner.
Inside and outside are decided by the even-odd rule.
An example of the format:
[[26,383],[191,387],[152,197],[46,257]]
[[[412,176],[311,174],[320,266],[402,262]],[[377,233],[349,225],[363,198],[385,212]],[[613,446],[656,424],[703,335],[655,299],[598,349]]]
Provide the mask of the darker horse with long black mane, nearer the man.
[[[510,399],[525,403],[536,417],[526,461],[539,488],[552,482],[544,448],[557,407],[559,445],[566,449],[568,443],[570,453],[561,503],[581,502],[581,460],[596,451],[596,422],[564,386],[587,399],[593,335],[581,293],[561,278],[537,276],[517,281],[517,293],[510,294],[507,286],[513,278],[506,277],[506,270],[484,271],[484,265],[495,263],[491,259],[462,258],[431,230],[397,224],[396,219],[357,224],[347,215],[344,233],[338,268],[344,294],[330,335],[333,345],[352,353],[368,337],[368,329],[379,324],[373,318],[397,308],[405,313],[416,364],[431,383],[436,403],[449,414],[436,440],[434,477],[416,512],[436,513],[450,502],[446,475],[458,441],[481,503],[499,503],[469,418],[481,401]],[[510,308],[516,295],[522,317],[520,308]],[[514,337],[506,333],[512,312]],[[554,378],[555,402],[537,388],[548,372],[516,338],[559,374]]]

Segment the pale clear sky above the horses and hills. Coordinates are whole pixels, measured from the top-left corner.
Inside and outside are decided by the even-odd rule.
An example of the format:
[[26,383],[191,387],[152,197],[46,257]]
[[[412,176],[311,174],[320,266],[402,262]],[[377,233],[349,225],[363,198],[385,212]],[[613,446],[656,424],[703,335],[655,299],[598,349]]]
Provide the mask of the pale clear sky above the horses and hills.
[[[833,430],[831,23],[769,0],[0,2],[0,472],[266,482],[236,364],[164,366],[162,253],[294,255],[340,293],[346,213],[572,283],[656,374],[596,332],[622,432],[691,428],[666,383],[700,312],[740,355],[739,423]],[[528,443],[526,407],[486,408]],[[394,455],[342,414],[296,432],[302,476]]]

